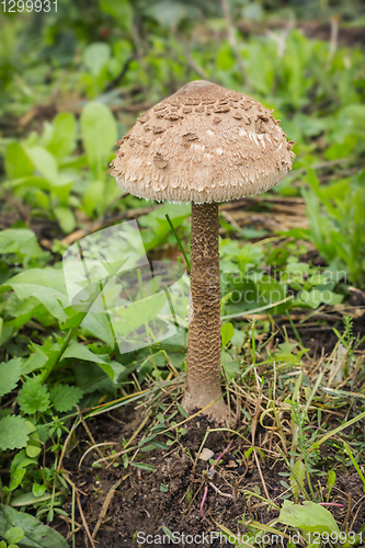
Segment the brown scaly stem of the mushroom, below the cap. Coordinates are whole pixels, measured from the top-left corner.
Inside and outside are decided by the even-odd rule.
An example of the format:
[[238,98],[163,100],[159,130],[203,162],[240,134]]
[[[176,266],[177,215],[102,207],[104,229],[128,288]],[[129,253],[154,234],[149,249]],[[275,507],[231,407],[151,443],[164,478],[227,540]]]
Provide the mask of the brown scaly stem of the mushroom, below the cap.
[[[192,204],[191,318],[187,381],[183,406],[189,413],[221,396],[220,284],[218,204]],[[205,413],[215,422],[228,419],[221,398]]]

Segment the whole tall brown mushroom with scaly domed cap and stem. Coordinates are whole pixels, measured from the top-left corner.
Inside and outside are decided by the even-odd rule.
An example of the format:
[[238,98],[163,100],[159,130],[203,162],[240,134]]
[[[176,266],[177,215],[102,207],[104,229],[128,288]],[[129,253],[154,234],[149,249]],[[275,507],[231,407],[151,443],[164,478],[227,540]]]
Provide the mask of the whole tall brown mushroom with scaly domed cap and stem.
[[[137,118],[112,162],[121,189],[192,203],[191,321],[183,406],[228,420],[220,386],[218,203],[259,194],[292,169],[293,141],[243,93],[197,80]],[[217,400],[217,401],[216,401]]]

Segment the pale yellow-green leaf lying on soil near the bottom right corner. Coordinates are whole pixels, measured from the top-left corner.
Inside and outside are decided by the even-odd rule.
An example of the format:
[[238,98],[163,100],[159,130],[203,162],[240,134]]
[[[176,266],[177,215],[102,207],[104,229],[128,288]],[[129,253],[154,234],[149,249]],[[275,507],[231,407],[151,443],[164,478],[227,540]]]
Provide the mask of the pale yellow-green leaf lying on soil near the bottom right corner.
[[290,525],[307,533],[335,533],[340,536],[340,529],[332,514],[323,506],[311,501],[306,501],[303,505],[284,501],[278,522]]

